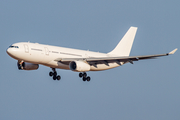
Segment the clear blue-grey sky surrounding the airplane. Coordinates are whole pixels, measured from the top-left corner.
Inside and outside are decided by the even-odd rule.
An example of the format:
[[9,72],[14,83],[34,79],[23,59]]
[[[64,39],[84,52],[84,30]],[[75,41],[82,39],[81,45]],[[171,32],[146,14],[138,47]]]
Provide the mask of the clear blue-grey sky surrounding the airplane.
[[19,71],[6,54],[16,42],[107,53],[130,26],[138,27],[131,55],[180,48],[179,1],[144,0],[1,0],[1,120],[179,120],[179,51],[155,60],[134,62],[107,71]]

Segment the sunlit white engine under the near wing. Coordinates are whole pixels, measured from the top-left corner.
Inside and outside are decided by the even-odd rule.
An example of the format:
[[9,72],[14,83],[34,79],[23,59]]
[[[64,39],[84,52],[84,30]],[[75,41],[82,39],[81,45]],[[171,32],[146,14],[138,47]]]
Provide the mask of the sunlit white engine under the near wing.
[[69,63],[69,68],[72,71],[85,72],[90,70],[90,65],[84,61],[72,61]]

